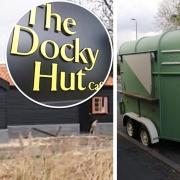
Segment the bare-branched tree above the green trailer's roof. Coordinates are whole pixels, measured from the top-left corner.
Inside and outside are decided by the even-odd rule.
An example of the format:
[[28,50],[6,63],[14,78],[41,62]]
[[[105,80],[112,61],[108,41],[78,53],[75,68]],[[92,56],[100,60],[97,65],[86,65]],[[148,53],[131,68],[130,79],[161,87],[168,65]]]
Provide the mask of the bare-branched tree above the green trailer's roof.
[[157,23],[163,30],[180,26],[180,0],[163,0],[159,6]]

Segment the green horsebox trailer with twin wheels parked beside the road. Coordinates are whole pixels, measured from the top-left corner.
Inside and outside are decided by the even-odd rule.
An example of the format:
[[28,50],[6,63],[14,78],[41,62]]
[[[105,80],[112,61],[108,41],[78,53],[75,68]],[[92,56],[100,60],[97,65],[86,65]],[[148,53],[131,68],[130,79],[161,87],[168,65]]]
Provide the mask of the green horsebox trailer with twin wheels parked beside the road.
[[180,30],[126,42],[119,55],[127,134],[144,145],[180,141]]

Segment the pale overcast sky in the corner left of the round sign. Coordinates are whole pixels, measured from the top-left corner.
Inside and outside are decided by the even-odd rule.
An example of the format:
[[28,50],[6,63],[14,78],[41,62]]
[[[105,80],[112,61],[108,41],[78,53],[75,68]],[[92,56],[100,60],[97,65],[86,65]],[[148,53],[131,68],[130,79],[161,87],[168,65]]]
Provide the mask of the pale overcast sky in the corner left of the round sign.
[[[52,0],[51,0],[52,1]],[[58,0],[53,0],[58,1]],[[0,11],[0,63],[5,63],[6,46],[10,33],[16,22],[32,7],[46,3],[48,0],[6,0],[1,1]]]

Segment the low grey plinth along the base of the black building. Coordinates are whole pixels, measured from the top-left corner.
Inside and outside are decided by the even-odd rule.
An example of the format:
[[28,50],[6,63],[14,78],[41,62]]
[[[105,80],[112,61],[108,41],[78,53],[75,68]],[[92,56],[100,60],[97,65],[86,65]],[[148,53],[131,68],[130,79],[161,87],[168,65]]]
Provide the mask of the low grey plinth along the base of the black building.
[[[88,133],[88,132],[87,132]],[[46,124],[46,125],[21,125],[8,126],[0,130],[0,143],[6,143],[10,139],[32,137],[56,137],[63,135],[79,135],[80,124]],[[97,123],[95,135],[113,135],[113,123]]]

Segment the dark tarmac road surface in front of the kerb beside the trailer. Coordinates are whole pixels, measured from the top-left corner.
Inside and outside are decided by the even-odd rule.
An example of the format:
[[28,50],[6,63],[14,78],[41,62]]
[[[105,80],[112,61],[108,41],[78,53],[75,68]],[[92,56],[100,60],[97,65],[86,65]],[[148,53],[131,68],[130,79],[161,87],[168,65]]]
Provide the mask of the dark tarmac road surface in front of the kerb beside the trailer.
[[179,180],[180,174],[135,144],[118,136],[118,180]]

